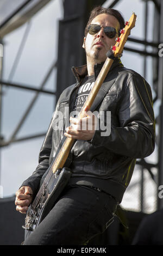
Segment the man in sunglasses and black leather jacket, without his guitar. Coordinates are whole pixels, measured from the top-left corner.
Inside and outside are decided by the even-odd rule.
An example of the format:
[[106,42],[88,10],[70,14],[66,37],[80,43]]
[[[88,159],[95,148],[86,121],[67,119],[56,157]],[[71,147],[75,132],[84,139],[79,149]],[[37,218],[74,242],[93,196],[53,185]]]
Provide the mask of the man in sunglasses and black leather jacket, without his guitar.
[[[122,201],[136,159],[154,150],[151,88],[142,76],[124,68],[119,57],[114,59],[91,109],[86,106],[82,118],[77,114],[103,68],[106,53],[124,27],[124,19],[115,9],[96,7],[91,11],[83,42],[87,63],[73,68],[77,83],[60,95],[39,164],[16,192],[16,210],[26,214],[64,137],[74,139],[68,165],[72,174],[23,245],[84,245],[103,233]],[[60,129],[56,129],[60,123],[56,113],[62,114]]]

